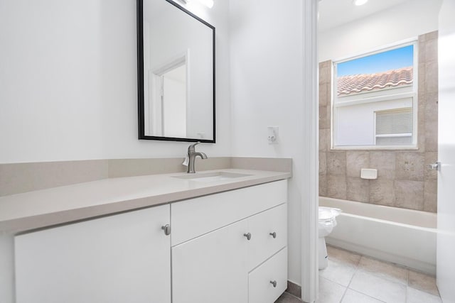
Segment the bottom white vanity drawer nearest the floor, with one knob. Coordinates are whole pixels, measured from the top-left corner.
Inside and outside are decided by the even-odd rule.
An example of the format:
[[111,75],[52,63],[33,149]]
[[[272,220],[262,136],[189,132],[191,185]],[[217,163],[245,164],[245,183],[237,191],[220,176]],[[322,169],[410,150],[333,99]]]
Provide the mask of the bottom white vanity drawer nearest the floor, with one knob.
[[287,248],[250,272],[248,283],[249,303],[275,302],[287,288]]

